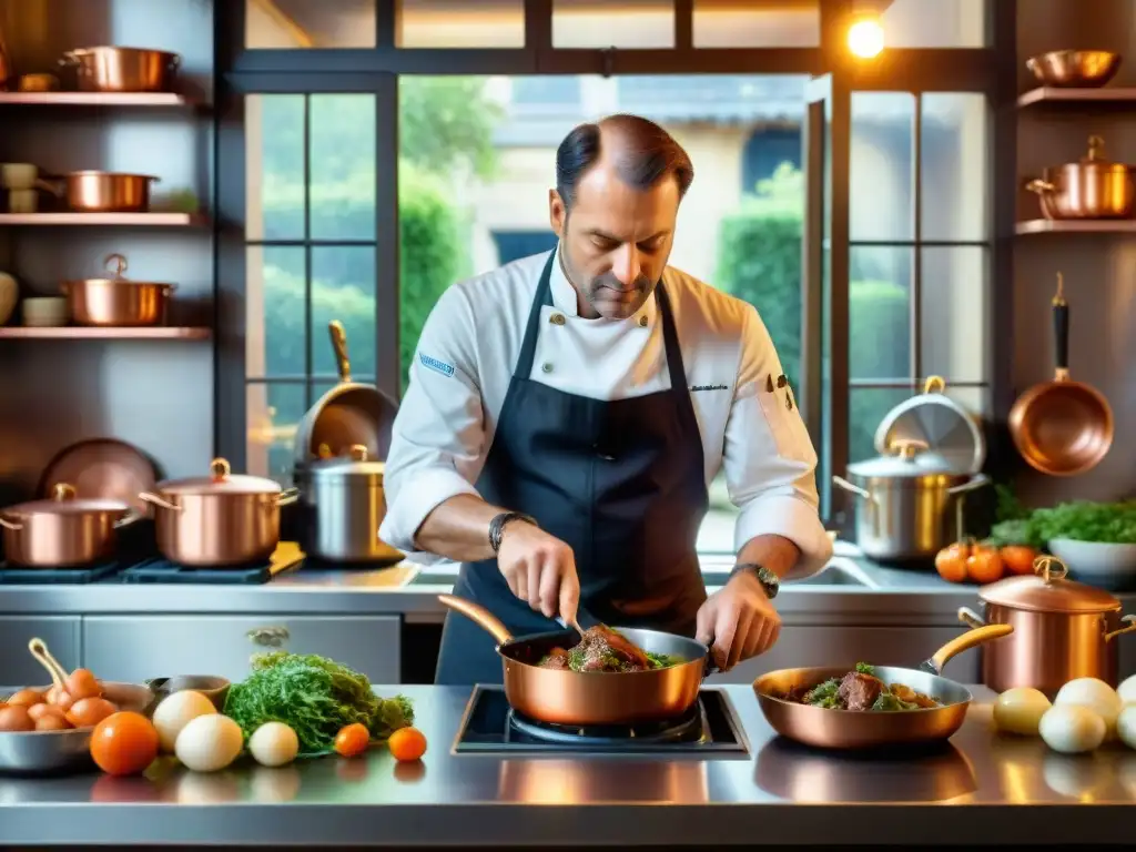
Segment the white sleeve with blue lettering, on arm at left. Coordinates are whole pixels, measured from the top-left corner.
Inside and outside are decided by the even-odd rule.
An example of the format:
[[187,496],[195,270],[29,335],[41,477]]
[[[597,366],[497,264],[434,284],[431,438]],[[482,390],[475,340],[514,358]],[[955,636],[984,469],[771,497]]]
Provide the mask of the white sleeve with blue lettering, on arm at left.
[[446,500],[477,494],[485,444],[474,315],[459,286],[431,311],[409,371],[386,458],[379,537],[428,562],[438,558],[418,549],[418,528]]

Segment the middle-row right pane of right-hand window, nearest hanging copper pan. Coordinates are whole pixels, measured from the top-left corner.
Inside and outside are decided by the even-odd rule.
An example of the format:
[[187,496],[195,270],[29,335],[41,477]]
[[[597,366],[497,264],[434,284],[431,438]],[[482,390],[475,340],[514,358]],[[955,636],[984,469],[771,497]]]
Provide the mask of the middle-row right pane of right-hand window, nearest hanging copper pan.
[[922,249],[924,373],[947,382],[989,377],[988,253],[985,248]]

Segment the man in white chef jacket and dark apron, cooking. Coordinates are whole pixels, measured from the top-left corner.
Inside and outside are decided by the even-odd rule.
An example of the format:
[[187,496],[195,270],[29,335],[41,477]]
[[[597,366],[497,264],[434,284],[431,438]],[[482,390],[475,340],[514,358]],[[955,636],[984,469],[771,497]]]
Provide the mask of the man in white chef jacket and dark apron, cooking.
[[[617,115],[573,130],[556,169],[557,248],[454,284],[426,320],[379,535],[461,562],[454,594],[513,635],[579,610],[695,636],[729,668],[777,641],[780,580],[832,553],[816,452],[758,311],[667,266],[682,147]],[[719,470],[737,556],[708,598],[695,538]],[[449,613],[436,682],[500,683],[494,645]]]

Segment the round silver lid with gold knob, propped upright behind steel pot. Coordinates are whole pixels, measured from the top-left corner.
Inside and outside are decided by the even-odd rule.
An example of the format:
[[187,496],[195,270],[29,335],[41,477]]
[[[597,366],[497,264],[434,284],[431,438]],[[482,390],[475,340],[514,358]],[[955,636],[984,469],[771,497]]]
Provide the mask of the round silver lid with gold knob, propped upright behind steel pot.
[[876,451],[887,453],[893,444],[919,441],[926,459],[937,457],[944,470],[975,474],[986,463],[986,438],[978,419],[946,395],[946,382],[929,376],[922,393],[888,411],[876,428]]

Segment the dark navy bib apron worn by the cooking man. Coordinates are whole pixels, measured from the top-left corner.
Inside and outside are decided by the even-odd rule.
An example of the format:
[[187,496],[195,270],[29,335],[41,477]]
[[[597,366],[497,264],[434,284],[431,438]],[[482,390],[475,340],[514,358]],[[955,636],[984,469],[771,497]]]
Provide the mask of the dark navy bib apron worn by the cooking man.
[[[709,498],[702,436],[667,292],[662,283],[654,291],[669,390],[612,401],[565,393],[529,378],[541,309],[552,306],[556,261],[553,251],[477,491],[494,506],[533,516],[571,548],[580,607],[590,616],[693,636],[705,601],[695,541]],[[544,333],[562,327],[550,324]],[[562,629],[509,591],[496,559],[463,565],[453,593],[484,605],[513,636]],[[501,680],[493,637],[465,616],[448,613],[435,683]]]

